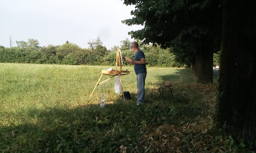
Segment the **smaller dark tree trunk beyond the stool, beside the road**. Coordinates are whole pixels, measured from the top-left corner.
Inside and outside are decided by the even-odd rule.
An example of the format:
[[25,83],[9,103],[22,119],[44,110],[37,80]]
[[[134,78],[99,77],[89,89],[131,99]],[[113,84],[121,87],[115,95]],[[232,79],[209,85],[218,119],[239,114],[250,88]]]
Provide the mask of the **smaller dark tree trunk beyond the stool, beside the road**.
[[199,66],[197,83],[213,82],[213,52],[208,49],[199,50]]

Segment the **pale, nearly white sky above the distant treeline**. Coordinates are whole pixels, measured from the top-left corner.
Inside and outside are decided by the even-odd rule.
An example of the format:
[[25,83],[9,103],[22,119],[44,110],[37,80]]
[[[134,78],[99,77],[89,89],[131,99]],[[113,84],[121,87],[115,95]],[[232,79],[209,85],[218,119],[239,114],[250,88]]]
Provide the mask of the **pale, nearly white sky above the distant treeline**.
[[129,31],[122,20],[132,18],[134,6],[121,0],[0,0],[0,46],[37,39],[40,46],[61,45],[66,41],[88,48],[98,36],[107,49],[120,46]]

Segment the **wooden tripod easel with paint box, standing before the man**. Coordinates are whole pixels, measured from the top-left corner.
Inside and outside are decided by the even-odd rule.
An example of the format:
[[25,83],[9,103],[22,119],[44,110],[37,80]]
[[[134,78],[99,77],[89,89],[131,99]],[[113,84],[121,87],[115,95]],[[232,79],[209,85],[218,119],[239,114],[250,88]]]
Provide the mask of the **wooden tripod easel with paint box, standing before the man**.
[[[117,70],[117,63],[119,63],[119,67],[120,67],[120,70],[118,71]],[[123,73],[123,74],[122,74]],[[101,77],[99,77],[99,80],[98,82],[96,83],[94,89],[92,90],[92,93],[94,92],[94,90],[96,89],[96,86],[110,80],[111,78],[115,77],[115,76],[119,76],[119,81],[120,81],[120,85],[121,85],[121,89],[122,89],[122,95],[123,95],[123,98],[124,98],[124,91],[123,91],[123,86],[122,86],[122,81],[121,81],[121,75],[127,75],[129,74],[130,71],[122,71],[122,55],[121,55],[121,49],[118,47],[118,50],[116,52],[116,70],[101,70],[101,77],[102,75],[110,75],[112,77],[102,81],[101,83],[99,83],[99,81],[101,80]],[[89,99],[88,101],[90,100],[91,96],[92,96],[92,93],[91,95],[89,96]],[[126,99],[124,98],[124,102],[126,101]]]

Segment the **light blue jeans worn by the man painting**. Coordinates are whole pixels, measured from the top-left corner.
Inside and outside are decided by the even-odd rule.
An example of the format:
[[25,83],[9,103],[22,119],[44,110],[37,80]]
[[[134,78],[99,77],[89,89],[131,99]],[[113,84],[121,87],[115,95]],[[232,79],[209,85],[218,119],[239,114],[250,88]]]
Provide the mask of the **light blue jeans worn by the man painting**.
[[137,101],[144,103],[145,100],[145,79],[147,76],[146,73],[140,73],[137,75]]

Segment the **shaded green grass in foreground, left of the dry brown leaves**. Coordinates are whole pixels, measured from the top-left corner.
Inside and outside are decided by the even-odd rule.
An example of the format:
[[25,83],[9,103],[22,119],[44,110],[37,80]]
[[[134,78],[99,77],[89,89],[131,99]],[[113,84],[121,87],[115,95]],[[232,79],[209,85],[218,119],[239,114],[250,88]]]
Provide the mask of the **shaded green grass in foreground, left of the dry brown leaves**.
[[[131,103],[74,109],[30,109],[23,125],[0,129],[4,152],[145,151],[140,137],[150,128],[173,124],[171,106]],[[168,117],[166,117],[168,116]],[[150,127],[150,128],[149,128]],[[137,147],[136,147],[137,146]]]

